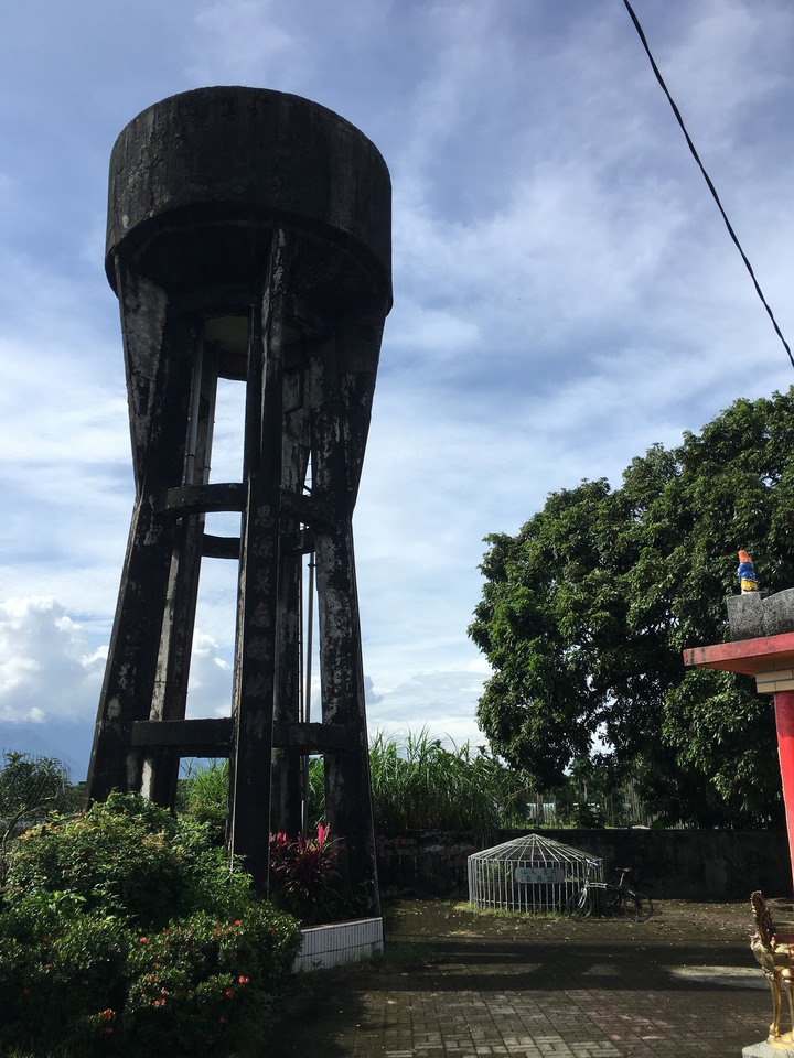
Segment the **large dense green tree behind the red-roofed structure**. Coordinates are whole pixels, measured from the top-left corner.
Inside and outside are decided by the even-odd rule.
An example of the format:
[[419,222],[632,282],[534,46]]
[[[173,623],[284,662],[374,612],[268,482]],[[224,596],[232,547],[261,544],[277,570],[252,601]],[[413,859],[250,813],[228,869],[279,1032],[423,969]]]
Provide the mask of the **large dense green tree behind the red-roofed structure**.
[[492,748],[546,787],[596,756],[670,821],[779,821],[771,699],[682,651],[728,638],[740,548],[763,591],[794,586],[793,457],[794,387],[487,537],[469,631],[493,669],[478,708]]

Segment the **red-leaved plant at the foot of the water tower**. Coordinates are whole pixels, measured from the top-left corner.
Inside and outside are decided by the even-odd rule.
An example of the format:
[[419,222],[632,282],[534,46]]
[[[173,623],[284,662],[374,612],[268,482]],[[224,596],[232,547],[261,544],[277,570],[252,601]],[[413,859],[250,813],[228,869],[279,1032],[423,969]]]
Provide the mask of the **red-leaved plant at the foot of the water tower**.
[[336,844],[329,830],[318,825],[316,836],[293,841],[285,833],[270,835],[270,892],[275,899],[304,922],[328,919],[339,903],[334,887]]

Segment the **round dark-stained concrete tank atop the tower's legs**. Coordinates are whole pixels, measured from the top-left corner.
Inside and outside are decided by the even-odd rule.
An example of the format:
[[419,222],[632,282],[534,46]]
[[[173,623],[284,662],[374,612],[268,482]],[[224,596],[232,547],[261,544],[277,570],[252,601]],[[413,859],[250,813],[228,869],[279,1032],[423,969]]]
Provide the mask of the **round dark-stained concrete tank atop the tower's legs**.
[[120,251],[172,291],[247,282],[285,218],[310,248],[308,284],[324,274],[334,301],[358,303],[367,291],[390,301],[389,174],[358,129],[264,88],[170,96],[133,118],[112,149],[108,278],[115,288]]

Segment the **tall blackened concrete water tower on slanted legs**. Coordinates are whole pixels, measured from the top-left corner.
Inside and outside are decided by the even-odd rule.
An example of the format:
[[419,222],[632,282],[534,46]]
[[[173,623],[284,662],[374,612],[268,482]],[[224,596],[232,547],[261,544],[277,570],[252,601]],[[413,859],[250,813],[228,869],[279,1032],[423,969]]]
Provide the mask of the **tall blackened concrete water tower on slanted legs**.
[[[202,88],[121,132],[106,269],[119,299],[136,499],[88,796],[173,805],[180,758],[228,756],[227,843],[267,887],[268,832],[325,763],[351,886],[377,900],[352,516],[384,320],[390,184],[375,147],[297,96]],[[212,472],[219,379],[245,387],[240,481]],[[239,535],[207,531],[235,511]],[[320,709],[305,709],[305,555]],[[237,564],[229,716],[186,720],[202,561]]]

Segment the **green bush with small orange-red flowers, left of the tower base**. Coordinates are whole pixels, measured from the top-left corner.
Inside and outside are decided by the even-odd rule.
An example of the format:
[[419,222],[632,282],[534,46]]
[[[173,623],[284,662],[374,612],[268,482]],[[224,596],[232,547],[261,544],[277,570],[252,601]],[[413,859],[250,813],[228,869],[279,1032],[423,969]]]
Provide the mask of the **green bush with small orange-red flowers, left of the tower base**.
[[230,873],[205,824],[112,795],[14,843],[0,911],[0,1045],[82,1056],[232,1047],[272,1001],[294,919]]

